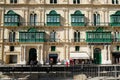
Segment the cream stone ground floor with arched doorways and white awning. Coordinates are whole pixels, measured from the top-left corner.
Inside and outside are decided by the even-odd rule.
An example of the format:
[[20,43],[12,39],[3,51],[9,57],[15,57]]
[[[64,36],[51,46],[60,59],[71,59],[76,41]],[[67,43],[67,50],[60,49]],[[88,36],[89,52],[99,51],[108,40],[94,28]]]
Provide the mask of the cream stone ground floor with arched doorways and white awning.
[[[6,46],[7,47],[7,46]],[[55,51],[51,51],[50,46],[46,45],[21,45],[15,47],[14,51],[4,51],[5,64],[30,64],[31,61],[37,61],[37,64],[49,63],[53,59],[53,63],[70,62],[72,59],[74,64],[118,64],[120,55],[111,51],[110,45],[87,45],[81,46],[80,51],[75,51],[74,46],[56,46]]]

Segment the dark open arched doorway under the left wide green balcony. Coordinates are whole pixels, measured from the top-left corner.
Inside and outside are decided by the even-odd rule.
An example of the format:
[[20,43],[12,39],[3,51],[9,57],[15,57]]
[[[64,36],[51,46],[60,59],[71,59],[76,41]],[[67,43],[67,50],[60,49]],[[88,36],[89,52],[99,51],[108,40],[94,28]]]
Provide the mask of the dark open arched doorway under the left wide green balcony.
[[37,62],[37,52],[35,48],[31,48],[29,50],[29,63],[28,64],[36,64]]

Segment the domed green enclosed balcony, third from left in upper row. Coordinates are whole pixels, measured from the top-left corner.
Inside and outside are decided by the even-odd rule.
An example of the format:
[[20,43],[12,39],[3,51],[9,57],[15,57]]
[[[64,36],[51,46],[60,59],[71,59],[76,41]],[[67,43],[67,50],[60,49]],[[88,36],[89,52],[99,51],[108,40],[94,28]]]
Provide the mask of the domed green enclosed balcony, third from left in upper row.
[[77,10],[74,14],[71,14],[71,25],[72,26],[84,26],[85,25],[85,16],[81,11]]

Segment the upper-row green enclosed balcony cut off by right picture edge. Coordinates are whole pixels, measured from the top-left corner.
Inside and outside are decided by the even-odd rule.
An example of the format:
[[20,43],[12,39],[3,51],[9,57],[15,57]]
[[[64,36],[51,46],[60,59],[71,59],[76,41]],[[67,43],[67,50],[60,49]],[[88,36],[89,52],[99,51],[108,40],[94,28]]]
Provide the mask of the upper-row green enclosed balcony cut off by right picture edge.
[[120,26],[120,11],[116,11],[115,14],[110,15],[110,25]]

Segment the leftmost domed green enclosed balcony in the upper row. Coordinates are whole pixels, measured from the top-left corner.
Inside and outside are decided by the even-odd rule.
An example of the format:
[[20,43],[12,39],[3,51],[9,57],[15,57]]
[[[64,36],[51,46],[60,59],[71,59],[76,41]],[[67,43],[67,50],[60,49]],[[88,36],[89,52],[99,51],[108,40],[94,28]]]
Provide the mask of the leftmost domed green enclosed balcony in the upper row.
[[4,14],[4,26],[19,26],[19,25],[20,15],[16,14],[12,10],[9,10],[7,14]]

